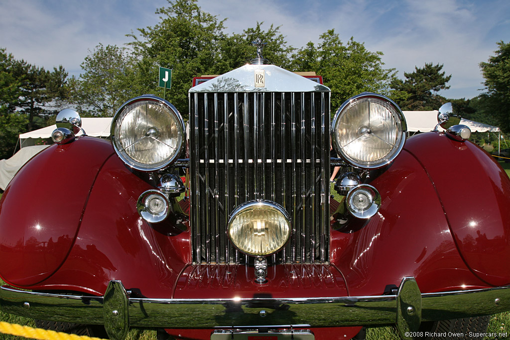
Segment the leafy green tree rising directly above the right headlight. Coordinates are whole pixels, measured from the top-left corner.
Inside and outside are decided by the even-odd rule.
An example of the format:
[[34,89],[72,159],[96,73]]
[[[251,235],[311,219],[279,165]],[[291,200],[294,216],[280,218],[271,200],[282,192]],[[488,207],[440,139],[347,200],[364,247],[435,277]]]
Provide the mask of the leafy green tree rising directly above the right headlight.
[[331,108],[336,110],[348,98],[361,92],[391,94],[389,84],[395,69],[385,69],[382,53],[371,52],[351,37],[343,44],[335,30],[320,36],[315,46],[309,42],[292,55],[294,71],[315,71],[331,89]]

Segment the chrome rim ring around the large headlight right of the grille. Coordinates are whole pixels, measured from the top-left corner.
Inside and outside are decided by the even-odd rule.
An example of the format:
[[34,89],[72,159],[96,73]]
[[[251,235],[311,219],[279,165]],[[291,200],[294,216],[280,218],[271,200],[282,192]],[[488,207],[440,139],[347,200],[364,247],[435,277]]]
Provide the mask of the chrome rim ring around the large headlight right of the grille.
[[[344,152],[344,150],[339,145],[339,142],[336,138],[336,130],[337,130],[337,124],[339,123],[340,118],[342,117],[342,114],[344,112],[346,112],[352,106],[359,104],[365,100],[370,101],[370,99],[378,99],[378,100],[384,101],[386,104],[388,104],[388,106],[390,108],[393,109],[393,110],[391,110],[391,113],[395,118],[397,118],[397,120],[398,120],[397,123],[400,124],[401,132],[397,136],[398,145],[396,145],[396,147],[393,148],[387,156],[381,158],[379,161],[377,161],[375,163],[372,163],[370,161],[369,164],[367,164],[367,163],[362,163],[362,162],[358,162],[358,161],[354,160],[349,154]],[[390,98],[380,95],[380,94],[377,94],[377,93],[372,93],[372,92],[364,92],[364,93],[353,96],[353,97],[347,99],[346,101],[344,101],[342,106],[335,113],[335,116],[333,117],[333,120],[331,121],[330,128],[331,128],[331,144],[332,144],[335,152],[337,152],[337,154],[339,154],[342,158],[344,158],[351,165],[358,167],[358,168],[362,168],[362,169],[376,169],[376,168],[380,168],[380,167],[390,164],[402,151],[402,148],[404,147],[404,144],[405,144],[406,133],[407,133],[407,124],[405,122],[405,117],[404,117],[402,110],[400,110],[400,108],[398,107],[398,105]]]

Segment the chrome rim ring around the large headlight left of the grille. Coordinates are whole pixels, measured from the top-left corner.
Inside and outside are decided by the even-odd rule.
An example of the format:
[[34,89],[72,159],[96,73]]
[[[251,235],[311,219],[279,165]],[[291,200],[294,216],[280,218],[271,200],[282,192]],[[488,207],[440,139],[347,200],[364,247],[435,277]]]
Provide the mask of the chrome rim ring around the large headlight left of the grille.
[[[174,116],[175,120],[177,121],[177,127],[179,128],[178,133],[181,136],[181,138],[179,140],[179,145],[177,145],[177,147],[176,147],[175,154],[171,158],[166,160],[165,162],[159,162],[159,163],[157,163],[157,165],[154,165],[154,166],[150,166],[150,165],[142,166],[141,165],[142,163],[139,163],[136,160],[132,159],[117,144],[117,143],[119,143],[119,141],[118,141],[119,137],[115,133],[117,120],[119,118],[123,118],[125,116],[125,115],[123,115],[123,112],[127,107],[131,106],[132,104],[135,104],[136,102],[140,102],[140,101],[154,101],[155,103],[160,104],[161,106],[165,107],[165,109],[167,109],[169,111],[169,113],[172,114]],[[186,129],[185,129],[183,117],[181,116],[179,111],[177,111],[177,109],[169,101],[167,101],[163,98],[154,96],[154,95],[145,94],[145,95],[138,96],[138,97],[132,98],[130,100],[127,100],[115,112],[115,115],[112,118],[112,124],[110,127],[110,137],[111,137],[111,142],[112,142],[112,146],[115,150],[115,153],[122,160],[122,162],[124,162],[127,166],[129,166],[133,169],[139,170],[139,171],[154,172],[154,171],[159,171],[159,170],[169,167],[171,164],[173,164],[177,160],[177,158],[179,158],[179,154],[181,153],[181,151],[183,150],[183,148],[185,146]]]

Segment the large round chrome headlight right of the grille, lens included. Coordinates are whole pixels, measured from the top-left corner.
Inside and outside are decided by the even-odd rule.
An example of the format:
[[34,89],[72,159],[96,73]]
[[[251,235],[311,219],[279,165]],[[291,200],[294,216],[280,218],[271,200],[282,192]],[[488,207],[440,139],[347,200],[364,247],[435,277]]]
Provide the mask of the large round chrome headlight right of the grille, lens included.
[[407,125],[391,99],[362,93],[342,104],[331,131],[339,155],[354,166],[371,169],[390,163],[400,153]]

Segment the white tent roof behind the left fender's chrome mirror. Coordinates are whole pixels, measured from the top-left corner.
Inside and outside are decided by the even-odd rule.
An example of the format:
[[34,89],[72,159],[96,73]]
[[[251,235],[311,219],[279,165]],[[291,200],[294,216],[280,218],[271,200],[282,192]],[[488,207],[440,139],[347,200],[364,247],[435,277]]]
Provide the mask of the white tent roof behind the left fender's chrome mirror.
[[[110,125],[112,118],[82,118],[82,127],[88,136],[108,137],[110,136]],[[38,130],[19,135],[19,146],[25,147],[35,145],[38,138],[48,139],[52,137],[52,132],[57,128],[56,125],[50,125]]]

